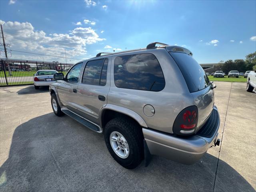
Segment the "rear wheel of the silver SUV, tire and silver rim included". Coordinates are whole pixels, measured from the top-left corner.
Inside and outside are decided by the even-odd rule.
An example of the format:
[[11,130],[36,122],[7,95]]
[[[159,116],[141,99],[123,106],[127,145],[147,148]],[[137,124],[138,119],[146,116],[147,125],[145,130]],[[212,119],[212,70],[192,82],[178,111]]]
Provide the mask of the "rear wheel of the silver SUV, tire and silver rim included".
[[142,128],[128,118],[110,120],[104,131],[111,156],[127,169],[136,168],[143,159]]

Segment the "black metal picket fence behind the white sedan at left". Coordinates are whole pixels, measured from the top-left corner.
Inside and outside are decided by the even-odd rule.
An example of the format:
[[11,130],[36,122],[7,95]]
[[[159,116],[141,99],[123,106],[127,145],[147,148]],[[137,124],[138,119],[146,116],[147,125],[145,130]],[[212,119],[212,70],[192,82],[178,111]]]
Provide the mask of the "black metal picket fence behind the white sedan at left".
[[26,60],[0,60],[0,86],[33,84],[38,70],[56,70],[66,74],[73,64]]

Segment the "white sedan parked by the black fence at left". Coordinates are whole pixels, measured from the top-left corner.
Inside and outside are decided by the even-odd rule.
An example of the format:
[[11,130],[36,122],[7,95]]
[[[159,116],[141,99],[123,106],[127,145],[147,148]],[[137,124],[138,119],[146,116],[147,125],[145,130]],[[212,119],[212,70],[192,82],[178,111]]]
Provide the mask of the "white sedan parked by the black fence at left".
[[38,70],[36,74],[34,74],[35,89],[39,89],[40,86],[49,86],[56,82],[53,78],[55,73],[58,72],[56,70]]

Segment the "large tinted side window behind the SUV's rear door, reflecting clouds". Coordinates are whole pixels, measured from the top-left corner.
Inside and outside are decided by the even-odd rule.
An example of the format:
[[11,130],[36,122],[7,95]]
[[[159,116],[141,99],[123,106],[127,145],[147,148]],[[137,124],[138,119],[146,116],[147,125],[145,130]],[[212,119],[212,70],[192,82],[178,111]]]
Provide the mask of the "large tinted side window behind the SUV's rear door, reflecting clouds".
[[114,82],[119,88],[161,91],[165,86],[161,66],[153,54],[118,56]]

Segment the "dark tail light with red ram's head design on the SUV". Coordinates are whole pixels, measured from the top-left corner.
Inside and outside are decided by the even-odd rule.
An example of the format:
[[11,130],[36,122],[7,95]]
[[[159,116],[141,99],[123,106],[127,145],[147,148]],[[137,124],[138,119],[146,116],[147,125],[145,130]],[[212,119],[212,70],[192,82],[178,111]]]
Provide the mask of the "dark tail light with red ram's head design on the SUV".
[[190,106],[182,110],[174,121],[172,130],[177,135],[190,135],[196,131],[198,109]]

